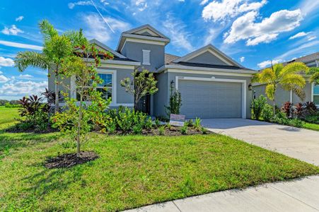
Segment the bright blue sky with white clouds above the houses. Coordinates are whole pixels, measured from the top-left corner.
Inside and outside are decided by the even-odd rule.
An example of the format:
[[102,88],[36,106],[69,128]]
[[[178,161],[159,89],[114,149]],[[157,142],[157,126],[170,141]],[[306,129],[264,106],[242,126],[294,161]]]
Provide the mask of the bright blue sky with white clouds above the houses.
[[[94,3],[94,5],[93,5]],[[319,51],[317,0],[89,0],[0,2],[0,99],[18,99],[47,87],[47,73],[19,73],[19,51],[40,51],[37,23],[48,19],[63,33],[83,28],[116,48],[120,33],[149,23],[170,37],[179,56],[211,43],[250,69],[262,69]]]

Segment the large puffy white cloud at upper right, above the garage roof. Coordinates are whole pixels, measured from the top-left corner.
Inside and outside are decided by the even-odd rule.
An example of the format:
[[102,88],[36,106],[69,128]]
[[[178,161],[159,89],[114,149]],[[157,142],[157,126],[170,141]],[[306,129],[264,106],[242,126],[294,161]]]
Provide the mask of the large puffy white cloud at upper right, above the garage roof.
[[231,30],[225,34],[225,43],[231,44],[239,40],[247,40],[247,45],[257,45],[275,40],[279,33],[288,32],[298,27],[303,19],[300,9],[295,11],[277,11],[269,18],[256,23],[258,13],[250,11],[237,18]]

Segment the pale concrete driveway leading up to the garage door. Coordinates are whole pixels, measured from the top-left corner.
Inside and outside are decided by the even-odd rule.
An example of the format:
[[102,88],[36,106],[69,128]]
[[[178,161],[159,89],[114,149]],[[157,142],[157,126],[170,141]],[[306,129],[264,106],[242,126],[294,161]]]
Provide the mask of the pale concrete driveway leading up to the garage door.
[[319,131],[250,119],[203,119],[210,131],[319,165]]

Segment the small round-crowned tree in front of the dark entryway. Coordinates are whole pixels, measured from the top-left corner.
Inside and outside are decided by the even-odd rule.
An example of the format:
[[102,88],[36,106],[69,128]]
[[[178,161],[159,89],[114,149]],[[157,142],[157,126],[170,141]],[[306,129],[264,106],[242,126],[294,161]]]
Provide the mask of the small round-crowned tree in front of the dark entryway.
[[130,78],[124,78],[121,81],[121,86],[125,88],[126,92],[134,96],[134,110],[137,111],[139,100],[145,95],[153,95],[158,91],[158,88],[156,88],[157,81],[153,73],[150,73],[146,69],[141,72],[135,70],[132,76],[133,81]]

